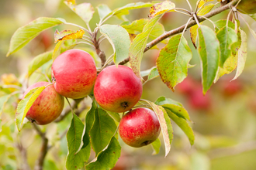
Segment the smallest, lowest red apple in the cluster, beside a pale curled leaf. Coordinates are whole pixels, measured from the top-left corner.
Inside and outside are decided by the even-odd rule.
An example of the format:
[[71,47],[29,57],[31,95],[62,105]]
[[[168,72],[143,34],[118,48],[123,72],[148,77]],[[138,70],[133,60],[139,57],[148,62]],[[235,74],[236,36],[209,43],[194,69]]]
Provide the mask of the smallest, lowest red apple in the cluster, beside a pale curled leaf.
[[119,123],[119,135],[123,141],[134,148],[149,145],[161,131],[157,115],[153,110],[140,107],[123,116]]

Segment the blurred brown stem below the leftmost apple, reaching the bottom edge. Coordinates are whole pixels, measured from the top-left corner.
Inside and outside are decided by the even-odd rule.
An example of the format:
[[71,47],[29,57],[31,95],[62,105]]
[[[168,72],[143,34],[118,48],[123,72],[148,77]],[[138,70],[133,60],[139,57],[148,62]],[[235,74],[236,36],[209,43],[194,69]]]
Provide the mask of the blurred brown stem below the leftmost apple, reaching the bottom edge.
[[39,155],[38,159],[36,160],[36,165],[35,165],[34,169],[35,170],[43,170],[43,161],[48,152],[48,139],[46,138],[45,133],[43,133],[36,124],[33,123],[32,125],[33,125],[33,128],[36,130],[37,134],[39,134],[43,140],[40,155]]

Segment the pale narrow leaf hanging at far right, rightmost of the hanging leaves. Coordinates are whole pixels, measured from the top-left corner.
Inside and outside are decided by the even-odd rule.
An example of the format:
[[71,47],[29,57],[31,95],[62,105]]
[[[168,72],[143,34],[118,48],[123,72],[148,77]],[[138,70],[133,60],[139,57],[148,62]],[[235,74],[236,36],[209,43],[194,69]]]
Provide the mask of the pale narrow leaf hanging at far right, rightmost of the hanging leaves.
[[241,36],[241,46],[240,49],[238,49],[237,53],[237,72],[234,76],[233,80],[236,80],[238,76],[243,72],[245,61],[247,58],[247,35],[246,33],[240,29],[240,36]]

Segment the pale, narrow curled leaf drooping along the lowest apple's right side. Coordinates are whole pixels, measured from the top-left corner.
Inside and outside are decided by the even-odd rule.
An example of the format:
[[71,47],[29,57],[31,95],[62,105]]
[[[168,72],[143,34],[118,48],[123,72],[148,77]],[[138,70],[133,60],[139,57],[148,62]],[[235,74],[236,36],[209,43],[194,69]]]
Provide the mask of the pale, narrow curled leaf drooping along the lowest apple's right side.
[[164,146],[165,146],[165,157],[168,155],[169,151],[171,150],[171,141],[173,138],[173,130],[171,126],[171,120],[168,117],[168,114],[164,110],[163,107],[157,106],[153,102],[145,100],[150,107],[154,110],[154,113],[157,114],[158,121],[161,125],[161,131],[164,137]]

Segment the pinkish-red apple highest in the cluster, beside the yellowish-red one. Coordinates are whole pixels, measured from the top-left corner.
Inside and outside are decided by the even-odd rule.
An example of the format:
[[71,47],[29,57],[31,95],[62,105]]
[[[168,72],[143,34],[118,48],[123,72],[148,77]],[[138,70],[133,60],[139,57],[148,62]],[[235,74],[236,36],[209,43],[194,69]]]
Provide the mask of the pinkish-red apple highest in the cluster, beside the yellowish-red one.
[[92,91],[96,78],[95,61],[83,50],[67,50],[54,60],[54,88],[64,97],[79,99],[87,96]]

